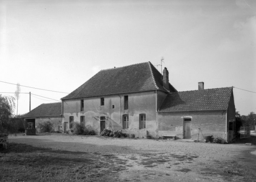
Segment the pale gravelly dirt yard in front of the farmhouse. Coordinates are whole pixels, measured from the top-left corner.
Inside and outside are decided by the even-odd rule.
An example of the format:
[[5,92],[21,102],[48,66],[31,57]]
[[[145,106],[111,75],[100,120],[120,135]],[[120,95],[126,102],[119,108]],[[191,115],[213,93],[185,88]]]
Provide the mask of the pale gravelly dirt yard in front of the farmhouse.
[[124,170],[112,174],[124,182],[256,181],[254,140],[251,146],[245,144],[247,140],[214,144],[45,133],[12,135],[9,142],[87,152],[99,157],[114,155]]

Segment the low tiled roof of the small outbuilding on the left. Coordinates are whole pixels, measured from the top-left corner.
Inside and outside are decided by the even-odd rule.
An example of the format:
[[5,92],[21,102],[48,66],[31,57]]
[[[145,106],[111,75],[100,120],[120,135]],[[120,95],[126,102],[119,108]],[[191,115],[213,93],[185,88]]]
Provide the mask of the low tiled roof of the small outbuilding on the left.
[[61,116],[61,102],[41,104],[37,108],[24,115],[23,118],[43,116]]

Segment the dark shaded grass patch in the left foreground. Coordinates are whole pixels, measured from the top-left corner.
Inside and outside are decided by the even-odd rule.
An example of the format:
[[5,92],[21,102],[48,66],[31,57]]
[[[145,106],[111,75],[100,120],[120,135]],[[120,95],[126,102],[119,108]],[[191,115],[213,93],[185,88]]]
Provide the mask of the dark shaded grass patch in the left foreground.
[[0,181],[118,182],[116,173],[126,167],[117,164],[117,159],[113,155],[10,143],[7,150],[0,151]]

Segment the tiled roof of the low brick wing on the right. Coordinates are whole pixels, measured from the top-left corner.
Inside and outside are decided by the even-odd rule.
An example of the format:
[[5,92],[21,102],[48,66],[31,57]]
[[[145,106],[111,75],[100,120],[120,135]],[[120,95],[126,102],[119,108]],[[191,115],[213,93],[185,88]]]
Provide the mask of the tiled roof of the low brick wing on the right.
[[232,87],[169,93],[159,112],[226,110]]

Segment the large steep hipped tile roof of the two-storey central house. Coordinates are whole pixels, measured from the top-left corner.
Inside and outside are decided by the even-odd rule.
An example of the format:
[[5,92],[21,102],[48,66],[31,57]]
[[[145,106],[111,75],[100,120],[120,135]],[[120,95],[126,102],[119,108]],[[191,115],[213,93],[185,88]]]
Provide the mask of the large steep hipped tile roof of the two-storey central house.
[[[93,97],[118,93],[166,90],[162,86],[161,73],[150,62],[120,68],[101,70],[87,82],[62,99]],[[171,91],[176,91],[170,85]]]

